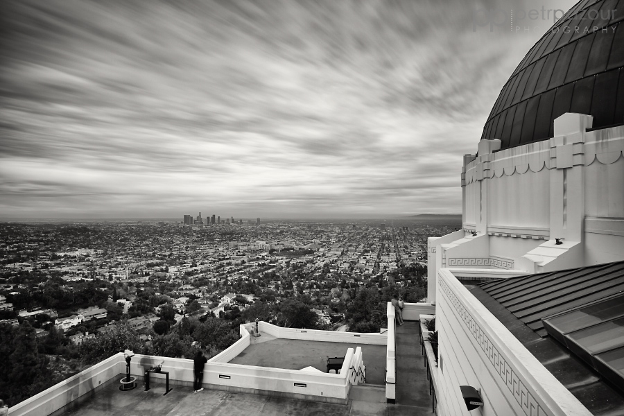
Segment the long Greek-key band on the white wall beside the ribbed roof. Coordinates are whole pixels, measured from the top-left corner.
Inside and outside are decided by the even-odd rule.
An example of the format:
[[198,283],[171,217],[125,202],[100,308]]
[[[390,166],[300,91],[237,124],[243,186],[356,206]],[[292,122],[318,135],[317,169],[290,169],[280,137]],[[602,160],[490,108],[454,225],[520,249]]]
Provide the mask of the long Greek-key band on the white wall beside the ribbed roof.
[[453,305],[453,308],[458,312],[469,333],[472,334],[477,345],[482,349],[483,353],[485,353],[485,356],[487,356],[487,360],[485,361],[489,361],[490,365],[494,368],[494,372],[499,374],[503,383],[507,385],[510,393],[514,399],[516,399],[517,404],[522,408],[524,414],[527,416],[548,415],[546,410],[540,406],[524,382],[516,374],[513,367],[508,363],[505,357],[501,355],[494,343],[492,343],[492,340],[488,338],[485,331],[481,329],[473,316],[467,311],[464,304],[460,302],[455,293],[449,288],[444,278],[440,275],[438,275],[438,277],[438,284],[440,284],[442,293],[447,295],[449,303]]

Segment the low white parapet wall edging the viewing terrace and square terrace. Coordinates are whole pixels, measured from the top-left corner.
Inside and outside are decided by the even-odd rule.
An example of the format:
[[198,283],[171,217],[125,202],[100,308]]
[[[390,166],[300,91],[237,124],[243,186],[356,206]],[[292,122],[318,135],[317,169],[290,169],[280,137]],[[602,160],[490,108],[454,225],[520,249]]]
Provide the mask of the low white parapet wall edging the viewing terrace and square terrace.
[[[249,327],[250,324],[246,326]],[[364,381],[361,347],[347,349],[339,374],[230,364],[228,361],[250,345],[250,332],[246,326],[241,325],[241,338],[236,343],[211,358],[205,365],[205,388],[346,404],[351,386]],[[259,327],[261,331],[288,339],[372,345],[386,345],[388,339],[386,334],[280,328],[266,322],[259,322]],[[142,388],[141,382],[144,381],[146,370],[159,364],[162,364],[163,371],[169,373],[171,385],[193,385],[193,360],[136,354],[130,362],[130,375],[137,378],[138,388]],[[110,383],[119,383],[124,376],[125,360],[120,352],[13,406],[9,415],[60,415]],[[159,385],[164,382],[165,374],[150,374],[150,383]]]

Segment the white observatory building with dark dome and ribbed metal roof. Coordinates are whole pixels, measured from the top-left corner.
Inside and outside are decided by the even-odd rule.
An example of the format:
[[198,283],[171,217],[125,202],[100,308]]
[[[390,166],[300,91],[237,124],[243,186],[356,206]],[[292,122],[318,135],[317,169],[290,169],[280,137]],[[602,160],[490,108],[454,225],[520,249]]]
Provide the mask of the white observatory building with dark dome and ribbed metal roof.
[[428,239],[438,415],[624,414],[624,37],[594,31],[528,53],[464,157],[462,229]]

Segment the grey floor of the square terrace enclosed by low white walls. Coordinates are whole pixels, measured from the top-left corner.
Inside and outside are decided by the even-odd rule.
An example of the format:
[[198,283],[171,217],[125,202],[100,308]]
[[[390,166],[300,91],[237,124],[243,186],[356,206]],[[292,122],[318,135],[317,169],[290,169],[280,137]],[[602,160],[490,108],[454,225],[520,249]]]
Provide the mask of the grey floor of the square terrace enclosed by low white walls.
[[[418,333],[416,333],[418,337]],[[362,347],[362,359],[366,366],[366,383],[385,383],[385,345],[362,345],[327,343],[322,341],[287,340],[262,334],[252,337],[252,342],[231,364],[257,365],[259,367],[301,370],[314,367],[327,371],[327,356],[343,357],[348,348]]]

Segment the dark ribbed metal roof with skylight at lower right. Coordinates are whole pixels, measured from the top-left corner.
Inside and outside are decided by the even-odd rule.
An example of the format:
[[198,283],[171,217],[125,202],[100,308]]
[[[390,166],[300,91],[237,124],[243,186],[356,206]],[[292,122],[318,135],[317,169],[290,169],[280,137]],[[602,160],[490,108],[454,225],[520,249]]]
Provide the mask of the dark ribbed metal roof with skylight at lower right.
[[467,287],[593,415],[624,415],[624,261]]

